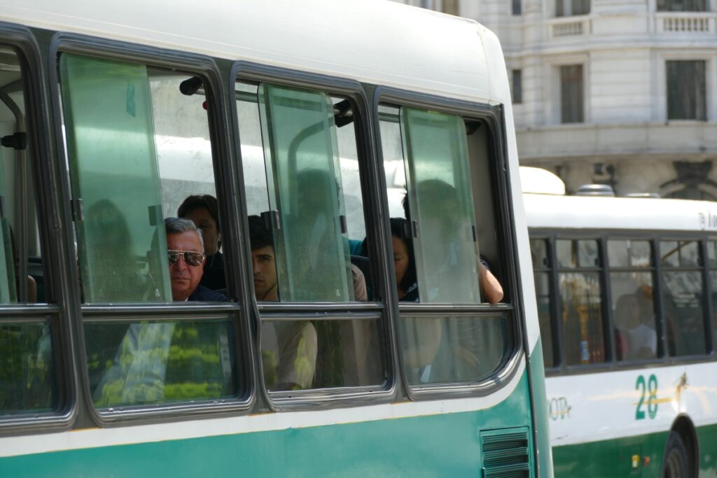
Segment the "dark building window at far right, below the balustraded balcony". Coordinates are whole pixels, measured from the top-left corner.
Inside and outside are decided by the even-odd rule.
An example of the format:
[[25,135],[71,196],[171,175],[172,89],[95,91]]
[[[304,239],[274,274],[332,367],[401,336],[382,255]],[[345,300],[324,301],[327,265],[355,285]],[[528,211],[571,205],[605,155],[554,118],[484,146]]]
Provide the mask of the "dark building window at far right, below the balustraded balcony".
[[668,120],[707,120],[705,61],[667,62]]

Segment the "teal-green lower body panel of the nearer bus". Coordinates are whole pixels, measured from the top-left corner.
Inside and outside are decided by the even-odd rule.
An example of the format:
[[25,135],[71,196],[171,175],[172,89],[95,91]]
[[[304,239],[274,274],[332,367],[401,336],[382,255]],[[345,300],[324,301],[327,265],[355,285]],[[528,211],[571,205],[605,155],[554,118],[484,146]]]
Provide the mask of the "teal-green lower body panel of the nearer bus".
[[529,436],[528,400],[524,374],[511,396],[482,411],[9,457],[0,477],[475,478],[483,476],[480,432],[521,427]]

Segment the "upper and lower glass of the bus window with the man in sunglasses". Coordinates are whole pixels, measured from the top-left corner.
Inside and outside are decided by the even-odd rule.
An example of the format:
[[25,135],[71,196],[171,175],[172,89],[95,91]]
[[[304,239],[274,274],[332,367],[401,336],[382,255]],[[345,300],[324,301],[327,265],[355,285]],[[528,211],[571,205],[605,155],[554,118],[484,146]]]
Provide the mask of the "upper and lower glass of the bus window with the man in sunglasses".
[[[204,97],[183,94],[186,80],[199,80],[201,86],[198,77],[186,73],[60,55],[85,304],[121,308],[132,302],[184,302],[186,295],[180,297],[174,287],[180,281],[194,291],[189,305],[227,300],[201,285],[206,259],[195,260],[217,238],[206,235],[201,242],[195,228],[204,224],[192,223],[192,211],[186,215],[186,231],[168,232],[164,220],[177,215],[187,196],[215,194]],[[185,232],[191,244],[173,246],[182,251],[170,262],[168,244]],[[184,250],[199,256],[190,259]],[[191,280],[185,277],[190,267]],[[223,269],[221,274],[223,279]],[[217,318],[216,312],[195,311],[189,321],[172,315],[150,319],[128,310],[122,320],[108,322],[98,309],[83,312],[95,406],[209,400],[237,393],[233,328],[226,312]]]

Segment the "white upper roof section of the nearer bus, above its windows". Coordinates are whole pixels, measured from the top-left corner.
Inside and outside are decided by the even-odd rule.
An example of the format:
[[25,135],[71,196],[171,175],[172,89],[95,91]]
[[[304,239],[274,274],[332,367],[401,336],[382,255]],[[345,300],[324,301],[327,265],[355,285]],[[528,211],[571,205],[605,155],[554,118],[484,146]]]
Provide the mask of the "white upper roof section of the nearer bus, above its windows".
[[492,32],[386,0],[0,0],[0,20],[465,100],[510,101]]

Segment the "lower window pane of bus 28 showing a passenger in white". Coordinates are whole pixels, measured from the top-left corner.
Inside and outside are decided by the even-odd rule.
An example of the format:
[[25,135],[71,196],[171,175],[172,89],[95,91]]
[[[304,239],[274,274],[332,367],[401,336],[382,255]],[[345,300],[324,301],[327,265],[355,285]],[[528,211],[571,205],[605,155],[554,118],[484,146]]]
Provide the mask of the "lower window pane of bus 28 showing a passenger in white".
[[617,360],[657,357],[651,272],[610,274]]

